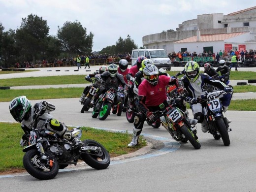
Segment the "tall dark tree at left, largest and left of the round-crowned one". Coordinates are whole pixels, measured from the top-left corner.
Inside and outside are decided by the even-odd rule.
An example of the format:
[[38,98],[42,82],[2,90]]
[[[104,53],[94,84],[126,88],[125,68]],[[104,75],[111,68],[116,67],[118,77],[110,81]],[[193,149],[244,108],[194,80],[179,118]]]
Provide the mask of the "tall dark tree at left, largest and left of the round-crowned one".
[[36,54],[45,52],[48,33],[49,26],[42,17],[31,14],[28,18],[22,18],[20,29],[16,31],[17,45],[22,54],[32,57],[33,63],[35,63]]

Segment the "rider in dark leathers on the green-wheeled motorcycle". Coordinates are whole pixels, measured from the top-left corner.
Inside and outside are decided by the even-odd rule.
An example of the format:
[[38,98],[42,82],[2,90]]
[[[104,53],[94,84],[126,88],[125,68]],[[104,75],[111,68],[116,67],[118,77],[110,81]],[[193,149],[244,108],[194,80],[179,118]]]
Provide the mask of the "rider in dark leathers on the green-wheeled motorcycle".
[[118,89],[119,84],[123,86],[123,91],[126,93],[127,84],[124,80],[124,76],[119,74],[118,67],[116,64],[110,64],[108,66],[108,71],[100,74],[100,78],[105,82],[104,85],[101,85],[94,95],[94,100],[92,100],[92,105],[95,104],[96,100],[101,94],[104,94],[109,88]]

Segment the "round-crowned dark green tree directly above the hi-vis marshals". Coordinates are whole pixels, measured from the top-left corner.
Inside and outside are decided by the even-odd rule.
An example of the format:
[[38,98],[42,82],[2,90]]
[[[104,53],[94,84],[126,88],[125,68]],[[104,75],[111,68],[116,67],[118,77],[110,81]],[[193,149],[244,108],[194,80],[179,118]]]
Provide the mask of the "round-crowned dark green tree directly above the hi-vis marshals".
[[62,50],[72,54],[90,54],[93,48],[94,34],[86,33],[86,28],[83,28],[80,22],[71,23],[66,21],[62,28],[58,26],[57,36],[61,41]]

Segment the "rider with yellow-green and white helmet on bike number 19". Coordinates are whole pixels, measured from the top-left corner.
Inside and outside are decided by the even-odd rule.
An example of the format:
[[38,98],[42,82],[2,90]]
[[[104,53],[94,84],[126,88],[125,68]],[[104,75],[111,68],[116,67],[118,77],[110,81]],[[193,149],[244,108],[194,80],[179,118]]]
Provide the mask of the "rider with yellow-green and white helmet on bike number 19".
[[[201,103],[197,103],[196,99],[200,96],[203,96],[205,92],[203,91],[203,87],[205,83],[208,83],[214,87],[219,88],[220,90],[224,90],[227,93],[221,98],[222,105],[224,108],[224,111],[227,110],[233,89],[231,87],[228,87],[224,83],[222,83],[219,80],[214,80],[212,77],[205,73],[199,74],[200,67],[199,65],[194,62],[190,61],[185,65],[185,76],[183,79],[184,87],[187,89],[189,96],[186,98],[186,101],[191,103],[191,108],[193,112],[194,119],[198,120],[198,123],[201,123],[202,131],[207,132],[208,127],[206,126],[206,120],[204,119],[203,111]],[[230,123],[230,122],[229,122]]]

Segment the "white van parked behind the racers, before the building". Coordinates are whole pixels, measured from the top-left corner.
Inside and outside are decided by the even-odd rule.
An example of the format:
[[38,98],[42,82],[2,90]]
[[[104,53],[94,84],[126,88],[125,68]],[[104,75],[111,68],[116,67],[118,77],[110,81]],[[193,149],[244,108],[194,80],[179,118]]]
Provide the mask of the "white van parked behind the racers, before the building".
[[136,64],[139,56],[151,59],[158,68],[171,70],[171,60],[164,49],[133,49],[131,53],[131,66]]

